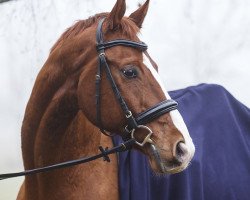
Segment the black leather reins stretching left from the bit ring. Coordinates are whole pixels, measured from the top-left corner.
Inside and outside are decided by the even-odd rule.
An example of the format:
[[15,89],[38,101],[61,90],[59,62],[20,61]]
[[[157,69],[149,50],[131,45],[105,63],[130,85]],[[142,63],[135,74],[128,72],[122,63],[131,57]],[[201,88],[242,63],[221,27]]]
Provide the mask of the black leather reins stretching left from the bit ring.
[[104,149],[102,146],[100,146],[99,150],[101,151],[101,153],[99,153],[97,155],[90,156],[90,157],[84,157],[84,158],[80,158],[80,159],[77,159],[77,160],[62,162],[62,163],[58,163],[58,164],[54,164],[54,165],[50,165],[50,166],[46,166],[46,167],[30,169],[30,170],[26,170],[26,171],[23,171],[23,172],[0,174],[0,180],[20,177],[20,176],[28,176],[28,175],[32,175],[32,174],[48,172],[48,171],[61,169],[61,168],[66,168],[66,167],[72,167],[72,166],[75,166],[75,165],[80,165],[82,163],[86,163],[86,162],[96,160],[98,158],[103,158],[103,161],[110,162],[110,158],[109,158],[108,155],[118,153],[118,152],[128,151],[132,147],[133,144],[135,144],[135,139],[127,140],[126,142],[123,142],[120,145],[115,146],[115,147],[113,147],[111,149],[108,149],[108,148]]

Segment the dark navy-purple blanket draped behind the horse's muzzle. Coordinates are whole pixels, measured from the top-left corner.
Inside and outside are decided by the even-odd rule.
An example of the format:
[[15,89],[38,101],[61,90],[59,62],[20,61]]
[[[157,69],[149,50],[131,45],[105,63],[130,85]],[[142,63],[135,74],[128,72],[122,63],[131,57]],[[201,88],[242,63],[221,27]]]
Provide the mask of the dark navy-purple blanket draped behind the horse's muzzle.
[[[249,200],[250,110],[218,85],[170,95],[196,146],[187,170],[156,176],[137,151],[119,154],[121,200]],[[121,142],[120,137],[114,143]]]

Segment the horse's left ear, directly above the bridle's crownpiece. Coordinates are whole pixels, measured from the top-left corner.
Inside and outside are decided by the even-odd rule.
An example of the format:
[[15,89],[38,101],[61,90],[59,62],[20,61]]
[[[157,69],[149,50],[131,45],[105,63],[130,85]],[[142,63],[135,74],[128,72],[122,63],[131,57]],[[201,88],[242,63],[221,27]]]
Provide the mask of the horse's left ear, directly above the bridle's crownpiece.
[[119,26],[122,17],[124,16],[126,11],[126,2],[125,0],[117,0],[114,8],[109,13],[107,17],[108,26],[111,30],[117,28]]

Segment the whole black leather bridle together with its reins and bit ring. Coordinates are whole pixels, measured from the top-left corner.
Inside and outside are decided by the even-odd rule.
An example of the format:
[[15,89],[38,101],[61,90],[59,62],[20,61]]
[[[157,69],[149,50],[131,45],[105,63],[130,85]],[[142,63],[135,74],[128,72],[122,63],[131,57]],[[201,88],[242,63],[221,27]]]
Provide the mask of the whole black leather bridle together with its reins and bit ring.
[[[101,120],[101,75],[103,68],[105,68],[105,72],[107,75],[107,78],[112,86],[112,90],[116,96],[116,99],[118,100],[123,113],[126,117],[126,126],[124,127],[125,131],[125,137],[124,137],[124,142],[121,143],[118,146],[115,146],[111,149],[108,148],[103,148],[99,147],[99,150],[101,153],[91,156],[91,157],[84,157],[72,161],[67,161],[67,162],[62,162],[46,167],[41,167],[41,168],[35,168],[31,170],[26,170],[23,172],[17,172],[17,173],[8,173],[8,174],[0,174],[0,180],[3,179],[8,179],[8,178],[14,178],[14,177],[19,177],[19,176],[27,176],[27,175],[32,175],[32,174],[37,174],[37,173],[42,173],[42,172],[48,172],[56,169],[61,169],[61,168],[66,168],[66,167],[71,167],[75,165],[79,165],[82,163],[90,162],[93,160],[96,160],[98,158],[103,158],[104,161],[110,162],[110,159],[108,155],[117,153],[117,152],[123,152],[127,151],[132,148],[134,144],[137,144],[139,146],[144,146],[146,143],[152,143],[152,140],[150,139],[151,135],[153,134],[152,130],[147,127],[145,124],[153,121],[154,119],[160,117],[161,115],[168,113],[172,110],[177,109],[178,103],[172,99],[169,100],[164,100],[153,107],[147,109],[144,112],[141,112],[134,116],[134,114],[130,111],[128,105],[126,104],[123,96],[121,95],[121,92],[119,91],[119,88],[117,87],[115,80],[112,76],[110,67],[107,63],[106,60],[106,55],[105,55],[105,49],[112,48],[114,46],[125,46],[125,47],[132,47],[136,48],[139,51],[145,52],[147,50],[147,45],[144,42],[135,42],[135,41],[130,41],[130,40],[124,40],[124,39],[117,39],[113,41],[108,41],[104,42],[103,40],[103,34],[102,34],[102,24],[104,22],[105,18],[101,19],[99,21],[97,31],[96,31],[96,49],[98,52],[99,56],[99,64],[97,67],[97,74],[96,74],[96,115],[97,115],[97,123],[98,127],[100,128],[101,132],[103,132],[105,135],[109,135],[107,131],[104,130],[102,126],[102,120]],[[148,134],[146,135],[145,139],[143,142],[136,141],[134,137],[134,133],[138,129],[145,129],[148,131]]]

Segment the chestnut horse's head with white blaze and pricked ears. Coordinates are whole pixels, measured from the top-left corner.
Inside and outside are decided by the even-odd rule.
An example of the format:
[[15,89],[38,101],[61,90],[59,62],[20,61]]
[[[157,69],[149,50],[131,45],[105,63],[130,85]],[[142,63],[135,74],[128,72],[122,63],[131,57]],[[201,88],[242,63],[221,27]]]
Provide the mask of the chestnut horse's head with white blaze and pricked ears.
[[[194,145],[176,109],[146,120],[143,126],[132,127],[133,131],[126,130],[129,117],[126,109],[134,117],[133,124],[141,113],[171,99],[158,75],[157,65],[138,38],[148,6],[149,0],[124,17],[125,0],[117,0],[110,13],[98,14],[84,24],[78,22],[66,31],[51,54],[55,54],[54,58],[60,54],[65,71],[72,78],[78,77],[75,82],[78,106],[91,123],[102,131],[121,136],[133,132],[138,144],[150,133],[146,143],[135,148],[148,156],[155,172],[177,173],[190,163]],[[126,104],[125,109],[119,95]]]

